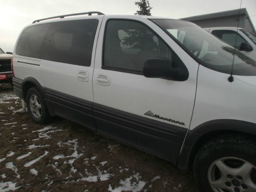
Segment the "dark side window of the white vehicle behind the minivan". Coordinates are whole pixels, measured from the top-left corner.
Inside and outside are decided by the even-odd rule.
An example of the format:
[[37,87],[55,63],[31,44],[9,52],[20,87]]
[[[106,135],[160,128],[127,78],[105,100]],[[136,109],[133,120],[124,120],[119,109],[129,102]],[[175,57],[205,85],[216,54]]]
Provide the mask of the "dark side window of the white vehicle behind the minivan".
[[237,49],[240,48],[241,43],[246,42],[246,40],[244,40],[244,38],[242,38],[242,36],[240,36],[235,31],[214,30],[214,31],[212,31],[212,34],[214,34],[216,37],[222,39],[224,42],[231,45],[232,47],[236,47]]

